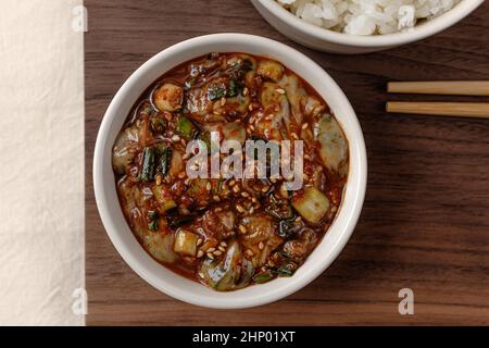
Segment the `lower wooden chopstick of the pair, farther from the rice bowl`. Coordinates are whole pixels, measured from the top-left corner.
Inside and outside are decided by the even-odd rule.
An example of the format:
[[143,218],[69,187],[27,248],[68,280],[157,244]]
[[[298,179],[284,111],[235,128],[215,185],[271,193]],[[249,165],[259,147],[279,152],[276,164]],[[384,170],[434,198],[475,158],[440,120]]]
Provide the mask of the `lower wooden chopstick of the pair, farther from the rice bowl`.
[[387,112],[489,119],[489,102],[388,101]]

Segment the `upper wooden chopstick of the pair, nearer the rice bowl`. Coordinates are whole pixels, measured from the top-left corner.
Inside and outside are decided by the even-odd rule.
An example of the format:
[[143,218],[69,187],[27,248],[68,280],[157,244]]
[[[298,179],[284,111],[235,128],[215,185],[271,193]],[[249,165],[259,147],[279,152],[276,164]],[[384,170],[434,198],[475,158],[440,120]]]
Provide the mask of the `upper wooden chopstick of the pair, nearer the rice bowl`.
[[391,94],[489,96],[489,80],[390,82]]

